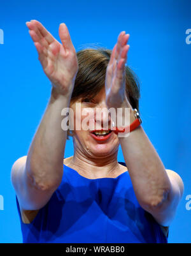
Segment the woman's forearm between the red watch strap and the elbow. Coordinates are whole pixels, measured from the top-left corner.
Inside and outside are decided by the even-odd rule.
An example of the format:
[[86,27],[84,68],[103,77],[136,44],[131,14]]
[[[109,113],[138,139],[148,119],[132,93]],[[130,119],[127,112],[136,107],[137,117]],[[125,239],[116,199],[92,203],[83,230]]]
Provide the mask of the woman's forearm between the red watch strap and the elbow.
[[[131,111],[131,123],[132,116]],[[139,204],[145,209],[160,206],[171,190],[171,183],[143,127],[139,126],[129,137],[119,140]]]

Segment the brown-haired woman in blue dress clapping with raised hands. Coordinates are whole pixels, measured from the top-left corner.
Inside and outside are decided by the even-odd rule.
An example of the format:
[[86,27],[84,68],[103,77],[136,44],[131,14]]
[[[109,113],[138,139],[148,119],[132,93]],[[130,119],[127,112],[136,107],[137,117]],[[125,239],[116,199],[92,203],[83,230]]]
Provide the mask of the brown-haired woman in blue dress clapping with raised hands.
[[[87,49],[76,56],[66,24],[59,27],[62,43],[37,20],[27,27],[52,91],[27,156],[11,170],[24,243],[167,243],[183,182],[165,169],[134,115],[139,88],[125,67],[129,34],[119,34],[112,53]],[[76,103],[81,113],[93,110],[97,131],[76,129],[85,118]],[[63,169],[68,134],[60,113],[67,107],[74,113],[74,155]],[[129,136],[112,131],[111,116],[97,108],[129,109]],[[106,123],[109,133],[101,135]],[[119,144],[125,163],[117,161]]]

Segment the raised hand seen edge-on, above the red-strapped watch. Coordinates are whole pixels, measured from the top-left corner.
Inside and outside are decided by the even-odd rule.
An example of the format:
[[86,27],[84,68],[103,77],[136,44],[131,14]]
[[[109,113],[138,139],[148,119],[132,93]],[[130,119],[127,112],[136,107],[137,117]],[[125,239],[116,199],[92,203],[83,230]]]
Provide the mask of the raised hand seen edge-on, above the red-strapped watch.
[[117,109],[122,107],[124,102],[127,103],[125,96],[125,63],[127,61],[127,52],[129,45],[129,34],[122,31],[115,47],[111,53],[110,62],[106,70],[106,105],[108,109],[111,107]]

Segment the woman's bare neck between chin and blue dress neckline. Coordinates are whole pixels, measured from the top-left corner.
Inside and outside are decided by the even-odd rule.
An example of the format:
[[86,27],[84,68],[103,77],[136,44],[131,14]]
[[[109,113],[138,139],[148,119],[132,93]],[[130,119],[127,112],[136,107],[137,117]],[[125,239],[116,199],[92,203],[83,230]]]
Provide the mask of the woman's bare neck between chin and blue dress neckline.
[[88,179],[117,177],[125,171],[124,167],[117,162],[117,152],[115,155],[106,156],[105,158],[93,158],[75,151],[67,166]]

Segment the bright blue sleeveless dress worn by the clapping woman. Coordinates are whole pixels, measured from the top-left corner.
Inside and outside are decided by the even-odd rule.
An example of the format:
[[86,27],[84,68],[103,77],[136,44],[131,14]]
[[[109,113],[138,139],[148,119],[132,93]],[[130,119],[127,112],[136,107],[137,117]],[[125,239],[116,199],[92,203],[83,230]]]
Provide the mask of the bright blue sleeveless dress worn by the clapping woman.
[[22,222],[18,200],[17,209],[23,243],[167,243],[139,205],[128,171],[87,179],[64,165],[60,186],[31,223]]

